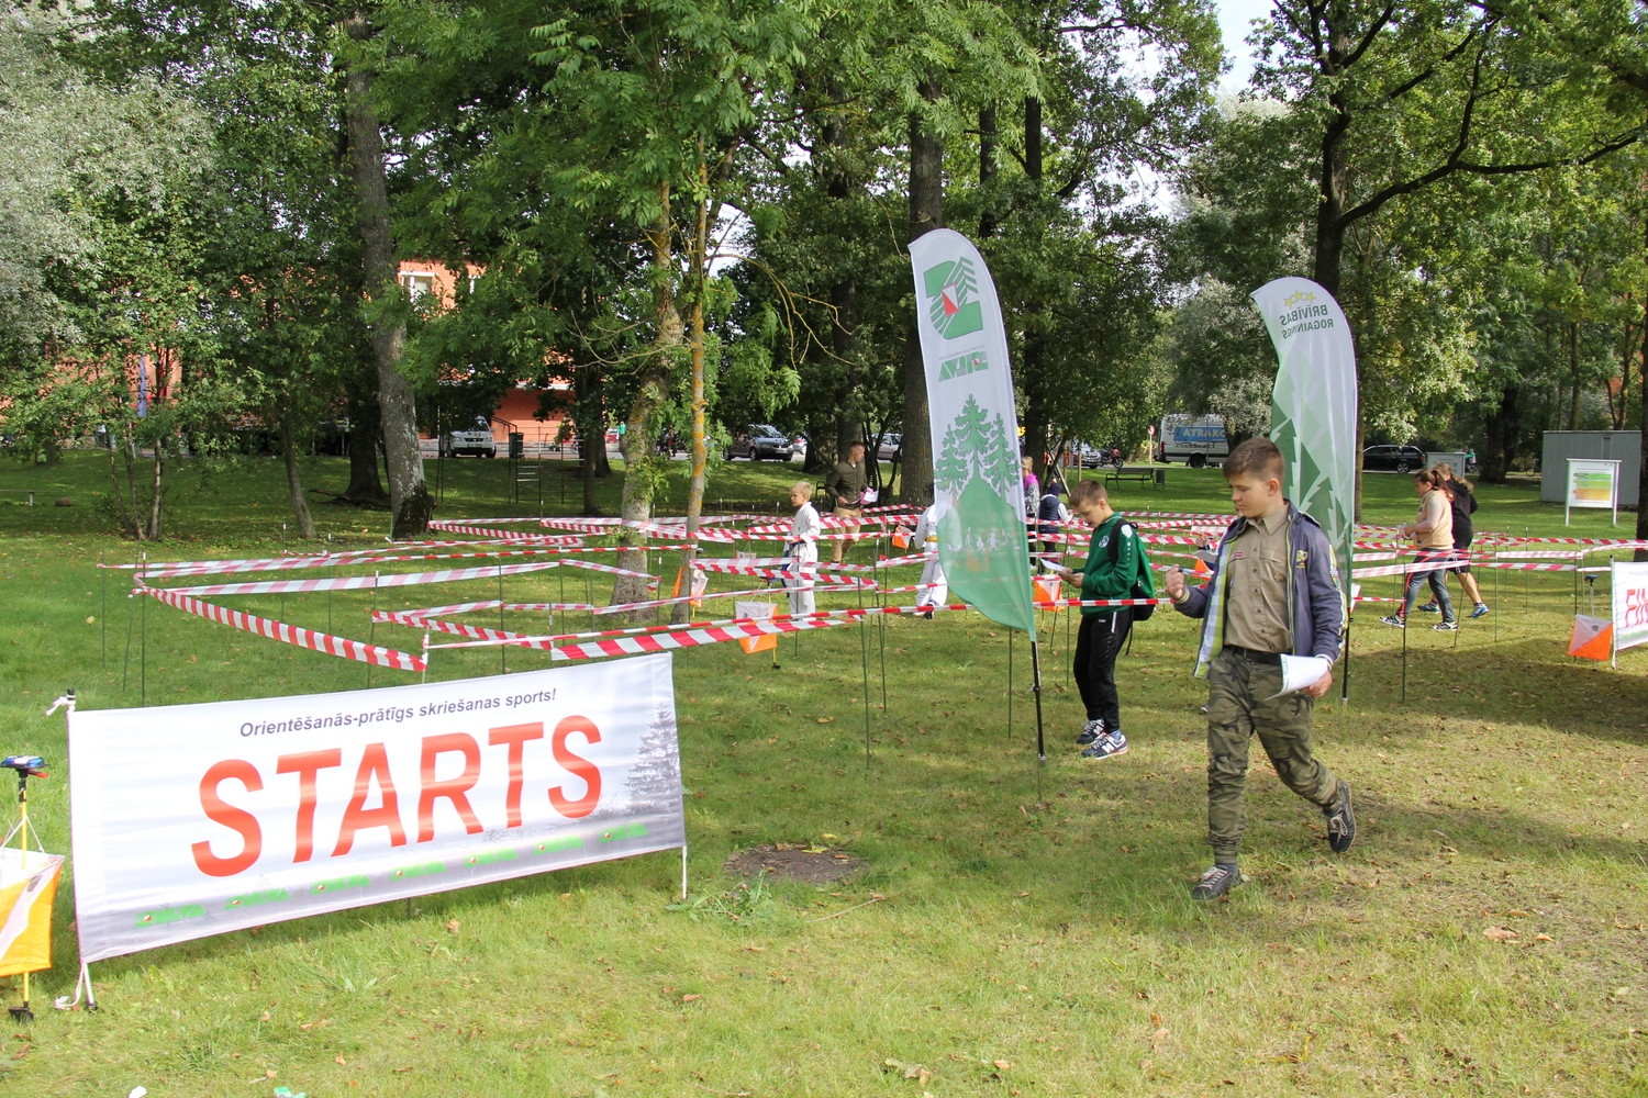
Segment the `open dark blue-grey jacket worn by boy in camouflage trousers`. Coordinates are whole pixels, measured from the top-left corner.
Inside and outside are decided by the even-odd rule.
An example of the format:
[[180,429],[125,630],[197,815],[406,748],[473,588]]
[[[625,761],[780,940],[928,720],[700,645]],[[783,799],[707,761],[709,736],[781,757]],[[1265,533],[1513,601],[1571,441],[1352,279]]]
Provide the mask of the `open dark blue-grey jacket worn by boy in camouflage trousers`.
[[[1224,647],[1224,596],[1228,578],[1224,563],[1231,543],[1248,520],[1241,515],[1224,530],[1213,575],[1196,588],[1185,589],[1185,601],[1173,609],[1187,617],[1201,617],[1201,647],[1196,650],[1196,677],[1208,673],[1208,663]],[[1338,586],[1338,563],[1333,547],[1317,520],[1287,504],[1287,629],[1294,637],[1294,655],[1325,655],[1338,660],[1340,635],[1345,627],[1345,603]]]

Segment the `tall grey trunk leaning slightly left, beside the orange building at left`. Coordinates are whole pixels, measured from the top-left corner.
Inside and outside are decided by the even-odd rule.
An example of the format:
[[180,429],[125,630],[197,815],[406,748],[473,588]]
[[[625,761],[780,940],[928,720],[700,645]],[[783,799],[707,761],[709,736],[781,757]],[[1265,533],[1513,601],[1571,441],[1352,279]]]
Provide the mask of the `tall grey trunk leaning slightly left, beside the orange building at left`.
[[[372,30],[364,13],[344,21],[349,38],[364,43]],[[361,272],[374,306],[372,357],[377,362],[377,405],[382,413],[384,459],[389,466],[389,535],[415,538],[428,528],[435,500],[424,481],[412,385],[400,374],[405,314],[396,280],[394,240],[389,235],[389,198],[384,181],[384,143],[372,110],[371,71],[354,61],[348,69],[349,165],[361,230]]]

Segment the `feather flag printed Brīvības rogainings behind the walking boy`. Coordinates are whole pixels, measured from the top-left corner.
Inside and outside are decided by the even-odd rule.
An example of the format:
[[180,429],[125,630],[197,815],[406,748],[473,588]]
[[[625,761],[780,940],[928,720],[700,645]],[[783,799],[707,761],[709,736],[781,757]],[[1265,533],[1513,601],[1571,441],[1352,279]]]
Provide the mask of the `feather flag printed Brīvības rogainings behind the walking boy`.
[[1269,281],[1252,291],[1252,303],[1280,361],[1271,441],[1287,459],[1282,491],[1322,523],[1348,599],[1356,514],[1356,347],[1350,324],[1333,295],[1309,278]]

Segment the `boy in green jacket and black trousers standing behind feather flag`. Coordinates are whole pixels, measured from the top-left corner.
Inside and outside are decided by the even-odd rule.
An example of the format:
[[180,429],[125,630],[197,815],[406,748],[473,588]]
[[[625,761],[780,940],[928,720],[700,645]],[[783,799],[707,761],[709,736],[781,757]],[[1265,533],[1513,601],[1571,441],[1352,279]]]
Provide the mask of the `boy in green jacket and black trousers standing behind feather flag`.
[[[1079,481],[1070,489],[1070,509],[1093,525],[1088,563],[1081,571],[1063,570],[1065,579],[1081,583],[1083,599],[1126,599],[1147,566],[1139,533],[1111,507],[1109,492],[1098,481]],[[1132,629],[1131,606],[1083,606],[1076,634],[1076,690],[1088,710],[1088,723],[1076,742],[1084,759],[1114,759],[1127,754],[1122,736],[1121,696],[1116,691],[1116,655]]]

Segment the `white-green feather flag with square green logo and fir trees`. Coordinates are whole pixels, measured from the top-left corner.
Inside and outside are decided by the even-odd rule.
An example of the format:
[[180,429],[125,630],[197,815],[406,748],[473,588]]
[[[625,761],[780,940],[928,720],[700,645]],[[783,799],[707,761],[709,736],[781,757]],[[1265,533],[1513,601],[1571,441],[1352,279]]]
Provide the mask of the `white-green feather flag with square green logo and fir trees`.
[[938,555],[959,598],[1035,639],[1018,415],[1002,306],[984,257],[959,232],[910,245],[933,426]]

